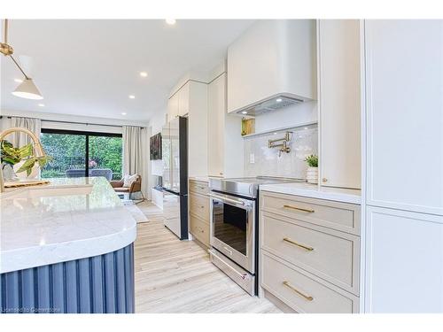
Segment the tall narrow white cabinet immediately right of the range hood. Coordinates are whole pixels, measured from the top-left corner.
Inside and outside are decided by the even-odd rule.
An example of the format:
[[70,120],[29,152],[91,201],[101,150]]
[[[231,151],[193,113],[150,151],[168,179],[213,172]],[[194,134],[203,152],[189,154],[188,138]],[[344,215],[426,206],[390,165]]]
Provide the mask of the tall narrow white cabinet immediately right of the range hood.
[[361,189],[360,22],[320,19],[317,34],[319,181]]

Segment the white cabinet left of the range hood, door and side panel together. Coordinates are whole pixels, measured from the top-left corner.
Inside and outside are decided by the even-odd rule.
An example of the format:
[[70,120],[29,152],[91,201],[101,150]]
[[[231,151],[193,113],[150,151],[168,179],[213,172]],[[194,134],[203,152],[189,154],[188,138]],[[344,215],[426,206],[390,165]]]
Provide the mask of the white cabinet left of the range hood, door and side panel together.
[[207,173],[215,177],[243,176],[241,118],[226,112],[226,73],[208,85]]

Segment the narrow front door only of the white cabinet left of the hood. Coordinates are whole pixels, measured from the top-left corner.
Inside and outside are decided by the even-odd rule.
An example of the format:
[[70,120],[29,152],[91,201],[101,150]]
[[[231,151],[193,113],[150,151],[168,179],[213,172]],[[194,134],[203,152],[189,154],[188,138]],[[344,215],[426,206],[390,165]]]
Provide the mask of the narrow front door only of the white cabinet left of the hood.
[[226,73],[221,74],[209,84],[207,105],[208,174],[209,176],[223,176]]

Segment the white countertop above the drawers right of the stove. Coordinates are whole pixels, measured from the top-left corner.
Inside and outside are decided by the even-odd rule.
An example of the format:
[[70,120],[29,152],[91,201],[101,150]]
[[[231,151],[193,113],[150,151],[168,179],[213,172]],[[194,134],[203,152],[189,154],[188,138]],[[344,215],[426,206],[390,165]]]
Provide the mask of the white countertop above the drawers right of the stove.
[[358,189],[319,187],[316,184],[301,182],[265,184],[260,186],[260,190],[358,205],[361,204],[361,190]]

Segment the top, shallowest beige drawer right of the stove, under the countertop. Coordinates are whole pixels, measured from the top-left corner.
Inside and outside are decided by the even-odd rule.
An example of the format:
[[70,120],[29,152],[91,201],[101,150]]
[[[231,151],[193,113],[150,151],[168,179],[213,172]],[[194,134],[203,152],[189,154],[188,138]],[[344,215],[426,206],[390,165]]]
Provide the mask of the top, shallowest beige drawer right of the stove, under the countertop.
[[263,191],[264,211],[360,235],[360,205]]

